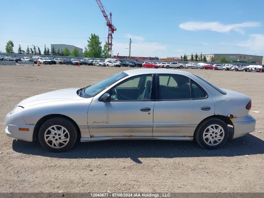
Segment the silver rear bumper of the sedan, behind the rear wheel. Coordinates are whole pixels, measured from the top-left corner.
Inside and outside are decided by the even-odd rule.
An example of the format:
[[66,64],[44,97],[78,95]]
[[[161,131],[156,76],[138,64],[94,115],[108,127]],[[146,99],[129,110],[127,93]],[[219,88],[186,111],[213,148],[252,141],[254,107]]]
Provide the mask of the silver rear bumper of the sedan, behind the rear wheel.
[[233,139],[247,135],[249,132],[254,131],[256,126],[256,120],[251,115],[233,118],[232,123],[234,126]]

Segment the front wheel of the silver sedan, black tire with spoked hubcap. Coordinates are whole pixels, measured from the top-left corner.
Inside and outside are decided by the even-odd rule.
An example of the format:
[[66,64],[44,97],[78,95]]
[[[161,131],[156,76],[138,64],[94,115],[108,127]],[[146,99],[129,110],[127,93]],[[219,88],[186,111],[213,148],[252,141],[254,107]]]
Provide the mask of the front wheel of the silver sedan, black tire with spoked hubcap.
[[40,144],[51,152],[64,152],[77,140],[76,126],[67,118],[54,117],[44,122],[39,129]]

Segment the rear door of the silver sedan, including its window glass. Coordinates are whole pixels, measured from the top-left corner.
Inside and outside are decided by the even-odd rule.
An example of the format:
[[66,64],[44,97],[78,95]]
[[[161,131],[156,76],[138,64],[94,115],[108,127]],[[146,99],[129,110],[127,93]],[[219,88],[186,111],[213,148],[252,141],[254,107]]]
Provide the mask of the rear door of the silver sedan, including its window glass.
[[156,82],[153,136],[192,137],[197,125],[214,115],[212,94],[192,77],[159,74]]

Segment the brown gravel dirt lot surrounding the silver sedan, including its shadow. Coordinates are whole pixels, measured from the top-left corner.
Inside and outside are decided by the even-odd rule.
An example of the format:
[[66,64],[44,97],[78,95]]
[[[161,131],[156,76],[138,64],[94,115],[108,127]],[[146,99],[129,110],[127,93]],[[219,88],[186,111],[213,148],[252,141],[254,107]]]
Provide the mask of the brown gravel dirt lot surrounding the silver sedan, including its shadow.
[[210,75],[213,84],[252,99],[256,130],[218,150],[202,149],[195,141],[112,140],[78,141],[68,152],[50,153],[38,141],[5,135],[5,115],[21,100],[84,87],[127,69],[0,65],[0,192],[264,192],[260,73],[185,70],[205,79]]

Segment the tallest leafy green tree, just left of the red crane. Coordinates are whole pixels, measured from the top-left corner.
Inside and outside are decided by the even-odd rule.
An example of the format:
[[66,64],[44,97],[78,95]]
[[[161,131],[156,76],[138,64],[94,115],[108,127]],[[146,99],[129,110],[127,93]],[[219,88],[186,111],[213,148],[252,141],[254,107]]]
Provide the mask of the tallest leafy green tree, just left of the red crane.
[[88,56],[92,58],[101,58],[102,55],[102,42],[100,42],[99,36],[91,34],[91,38],[87,40]]

